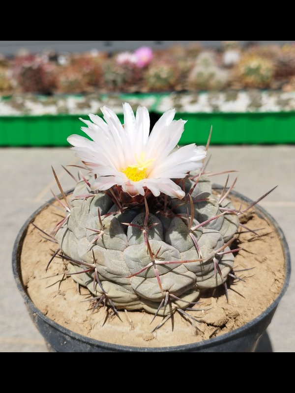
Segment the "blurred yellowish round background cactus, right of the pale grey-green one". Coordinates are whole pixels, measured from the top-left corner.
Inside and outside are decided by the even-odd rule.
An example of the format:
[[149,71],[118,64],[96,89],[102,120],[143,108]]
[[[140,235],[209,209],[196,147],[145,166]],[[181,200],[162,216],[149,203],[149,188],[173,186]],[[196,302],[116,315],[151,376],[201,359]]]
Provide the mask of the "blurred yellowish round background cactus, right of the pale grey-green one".
[[246,87],[269,87],[274,77],[274,64],[270,59],[244,55],[236,65],[236,79]]

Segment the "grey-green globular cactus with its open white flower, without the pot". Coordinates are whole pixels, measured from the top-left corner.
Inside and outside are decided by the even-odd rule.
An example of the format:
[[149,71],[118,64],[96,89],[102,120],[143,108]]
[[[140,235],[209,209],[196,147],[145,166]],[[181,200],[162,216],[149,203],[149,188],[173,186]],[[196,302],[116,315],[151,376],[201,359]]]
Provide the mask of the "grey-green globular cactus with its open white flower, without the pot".
[[[203,291],[221,284],[227,288],[232,275],[238,250],[229,246],[240,212],[227,196],[234,184],[227,192],[226,187],[220,194],[212,191],[202,163],[196,162],[206,156],[205,147],[191,144],[173,151],[185,123],[172,121],[175,111],[158,120],[149,138],[146,108],[139,107],[135,119],[124,104],[124,128],[114,112],[102,111],[108,125],[99,116],[90,115],[93,123],[84,120],[89,128],[82,129],[93,141],[68,138],[92,170],[68,198],[62,192],[67,216],[55,239],[68,261],[67,273],[89,289],[95,307],[165,317],[185,312]],[[169,179],[172,173],[178,178]]]

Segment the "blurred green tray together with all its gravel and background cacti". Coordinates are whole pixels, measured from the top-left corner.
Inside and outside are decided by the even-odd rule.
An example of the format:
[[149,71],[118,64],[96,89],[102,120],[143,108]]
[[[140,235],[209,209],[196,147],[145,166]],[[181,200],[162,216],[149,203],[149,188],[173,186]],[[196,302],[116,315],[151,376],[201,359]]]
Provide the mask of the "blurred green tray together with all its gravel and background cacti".
[[196,128],[206,143],[208,123],[213,144],[293,143],[295,45],[221,44],[0,56],[0,145],[64,146],[76,115],[103,105],[121,115],[125,101],[153,115],[176,108],[190,120],[181,144]]

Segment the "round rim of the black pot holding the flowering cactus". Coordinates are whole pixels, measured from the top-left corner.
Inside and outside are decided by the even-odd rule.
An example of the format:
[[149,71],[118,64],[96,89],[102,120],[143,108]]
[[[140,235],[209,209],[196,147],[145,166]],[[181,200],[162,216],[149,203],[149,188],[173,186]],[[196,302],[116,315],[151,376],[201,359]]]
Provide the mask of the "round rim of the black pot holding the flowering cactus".
[[[212,184],[212,188],[214,188],[214,189],[221,188],[222,189],[221,186],[216,185],[216,184]],[[73,192],[73,189],[67,191],[65,194],[68,195],[71,192]],[[231,195],[234,197],[238,197],[247,203],[253,202],[253,200],[251,200],[250,198],[245,197],[244,195],[242,195],[234,190],[231,191]],[[21,251],[22,251],[23,240],[27,234],[28,226],[34,220],[35,216],[38,213],[40,213],[40,211],[43,210],[46,206],[50,205],[54,200],[55,200],[55,198],[50,199],[48,202],[45,202],[42,206],[40,206],[37,210],[35,210],[31,214],[31,216],[28,218],[28,220],[25,222],[25,224],[22,226],[22,228],[20,229],[20,231],[16,237],[16,240],[14,242],[13,252],[12,252],[13,276],[14,276],[17,287],[18,287],[19,291],[21,292],[21,295],[22,295],[26,305],[31,309],[32,313],[36,314],[39,318],[43,319],[44,322],[51,325],[56,330],[60,331],[62,334],[70,336],[70,337],[74,338],[75,340],[86,342],[91,346],[95,345],[97,347],[101,347],[106,350],[110,349],[112,351],[120,351],[120,352],[121,351],[124,351],[124,352],[126,352],[126,351],[130,351],[130,352],[163,352],[163,351],[173,351],[173,350],[178,351],[178,352],[186,352],[186,351],[191,350],[192,348],[204,349],[204,348],[207,348],[207,347],[210,347],[213,345],[220,345],[224,342],[232,340],[233,338],[237,338],[237,337],[242,336],[245,331],[247,331],[248,329],[251,329],[254,325],[256,325],[256,323],[259,322],[259,320],[262,320],[264,317],[266,317],[267,314],[269,314],[271,311],[274,311],[276,309],[279,301],[281,300],[281,298],[283,297],[283,295],[285,294],[285,292],[288,288],[290,276],[291,276],[291,257],[290,257],[290,251],[289,251],[286,237],[285,237],[281,227],[275,221],[275,219],[263,207],[261,207],[257,204],[257,205],[255,205],[256,213],[260,217],[266,217],[267,220],[270,221],[271,224],[274,226],[277,234],[279,235],[279,239],[280,239],[280,243],[282,246],[284,259],[285,259],[285,280],[284,280],[284,284],[282,286],[282,289],[279,292],[276,299],[274,299],[274,301],[271,303],[271,305],[268,306],[267,309],[265,309],[257,317],[255,317],[251,321],[247,322],[243,326],[240,326],[239,328],[232,330],[231,332],[224,333],[218,337],[213,337],[213,338],[209,338],[206,340],[202,340],[199,342],[193,342],[193,343],[189,343],[189,344],[165,346],[165,347],[163,347],[163,346],[162,347],[137,347],[137,346],[130,346],[130,345],[114,344],[111,342],[100,341],[100,340],[97,340],[94,338],[83,336],[79,333],[75,333],[72,330],[69,330],[69,329],[63,327],[62,325],[59,325],[57,322],[53,321],[48,316],[44,315],[42,313],[42,311],[40,309],[38,309],[34,305],[32,300],[29,298],[29,295],[27,294],[25,287],[23,285],[23,282],[22,282],[21,267],[20,267],[20,255],[21,255]]]

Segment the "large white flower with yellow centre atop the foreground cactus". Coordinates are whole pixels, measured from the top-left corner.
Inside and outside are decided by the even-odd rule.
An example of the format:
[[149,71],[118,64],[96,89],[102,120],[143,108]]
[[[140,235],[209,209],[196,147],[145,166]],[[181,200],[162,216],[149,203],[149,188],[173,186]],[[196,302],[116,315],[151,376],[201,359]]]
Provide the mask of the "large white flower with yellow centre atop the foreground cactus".
[[173,120],[175,110],[165,112],[149,134],[149,114],[145,107],[138,107],[136,116],[129,104],[123,104],[124,125],[109,108],[102,107],[105,121],[89,114],[92,120],[82,120],[81,127],[92,140],[71,135],[76,155],[91,168],[97,178],[91,184],[93,190],[108,190],[114,185],[130,196],[145,195],[145,187],[157,197],[160,193],[179,199],[184,192],[171,179],[184,178],[190,170],[202,168],[197,162],[206,156],[204,146],[195,143],[177,145],[186,121]]

